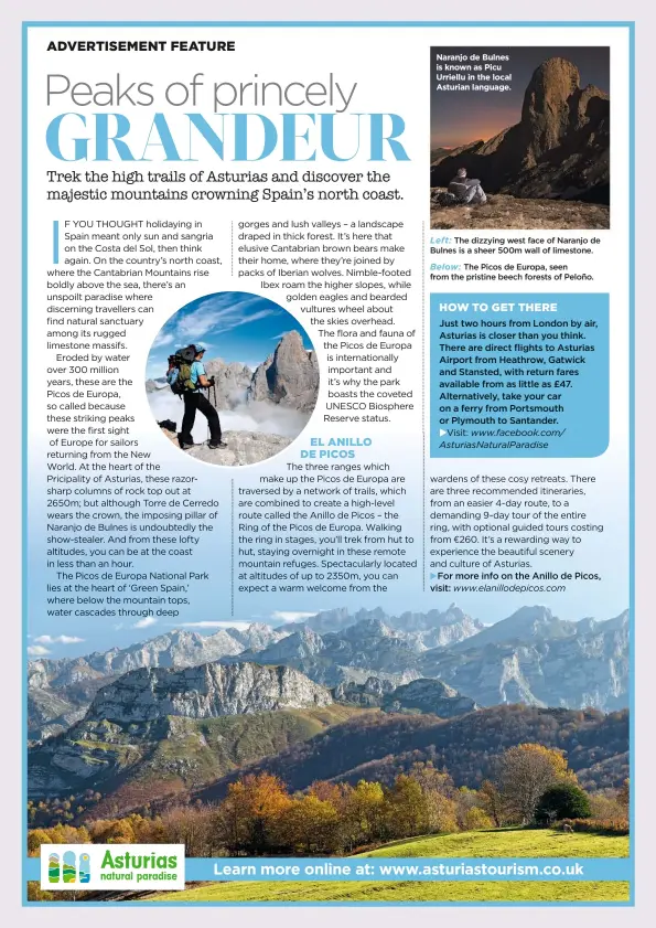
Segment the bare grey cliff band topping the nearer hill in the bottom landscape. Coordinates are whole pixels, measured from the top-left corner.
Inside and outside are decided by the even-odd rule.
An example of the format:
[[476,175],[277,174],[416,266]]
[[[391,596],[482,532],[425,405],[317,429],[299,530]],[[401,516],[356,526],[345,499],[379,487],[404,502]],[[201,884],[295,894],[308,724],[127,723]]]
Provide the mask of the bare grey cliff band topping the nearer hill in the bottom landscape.
[[331,703],[327,690],[292,668],[201,664],[127,673],[100,690],[88,714],[126,725],[169,715],[213,718]]

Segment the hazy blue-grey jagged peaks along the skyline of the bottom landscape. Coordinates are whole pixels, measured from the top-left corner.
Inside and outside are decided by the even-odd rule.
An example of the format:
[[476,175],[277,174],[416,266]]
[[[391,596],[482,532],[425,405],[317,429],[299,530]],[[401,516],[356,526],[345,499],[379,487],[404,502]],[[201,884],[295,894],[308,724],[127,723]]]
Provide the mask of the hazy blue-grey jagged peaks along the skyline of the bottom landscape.
[[399,616],[337,609],[279,628],[254,622],[208,636],[178,630],[123,649],[39,659],[29,663],[30,738],[68,728],[98,690],[123,673],[213,661],[290,666],[329,689],[375,678],[392,690],[428,678],[478,705],[610,711],[627,704],[628,614],[574,622],[534,606],[484,626],[454,605]]

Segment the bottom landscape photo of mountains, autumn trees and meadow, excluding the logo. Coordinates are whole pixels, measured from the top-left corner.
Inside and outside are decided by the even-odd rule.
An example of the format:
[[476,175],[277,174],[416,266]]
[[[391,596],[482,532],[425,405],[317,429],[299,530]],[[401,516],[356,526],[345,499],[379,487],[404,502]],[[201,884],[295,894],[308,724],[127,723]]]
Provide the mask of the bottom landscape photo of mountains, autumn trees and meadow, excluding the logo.
[[[183,844],[219,875],[187,872],[172,892],[87,890],[83,853],[69,889],[34,879],[28,899],[625,904],[625,878],[513,879],[502,867],[567,858],[585,874],[585,860],[615,858],[626,874],[628,625],[627,612],[566,621],[544,606],[494,625],[455,605],[333,609],[35,657],[28,855]],[[389,879],[368,881],[221,875],[223,858],[326,857],[411,858],[417,870],[390,865]],[[502,878],[449,878],[472,858],[498,860]],[[438,863],[434,878],[412,878]]]

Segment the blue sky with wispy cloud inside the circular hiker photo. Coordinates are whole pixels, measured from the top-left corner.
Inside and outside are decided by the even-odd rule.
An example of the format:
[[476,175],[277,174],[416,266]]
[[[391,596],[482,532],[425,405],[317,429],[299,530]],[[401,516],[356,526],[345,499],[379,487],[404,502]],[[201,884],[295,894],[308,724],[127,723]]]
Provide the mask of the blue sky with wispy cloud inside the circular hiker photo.
[[203,344],[207,361],[223,358],[255,369],[292,330],[300,332],[307,349],[312,348],[302,327],[278,303],[254,294],[209,294],[183,306],[160,329],[146,376],[164,376],[168,356],[190,343]]

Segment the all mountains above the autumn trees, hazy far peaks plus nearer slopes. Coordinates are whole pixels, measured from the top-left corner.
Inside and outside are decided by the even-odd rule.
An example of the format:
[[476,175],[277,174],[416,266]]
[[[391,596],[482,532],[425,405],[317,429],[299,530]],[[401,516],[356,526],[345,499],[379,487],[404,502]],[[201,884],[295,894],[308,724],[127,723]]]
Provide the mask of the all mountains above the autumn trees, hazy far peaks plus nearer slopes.
[[[526,607],[483,626],[455,606],[334,610],[40,659],[30,796],[97,791],[94,814],[116,814],[216,798],[248,771],[303,789],[316,778],[390,781],[416,760],[475,786],[526,740],[567,750],[582,781],[616,786],[627,768],[627,634],[626,614],[572,622]],[[430,647],[440,636],[447,643]]]

